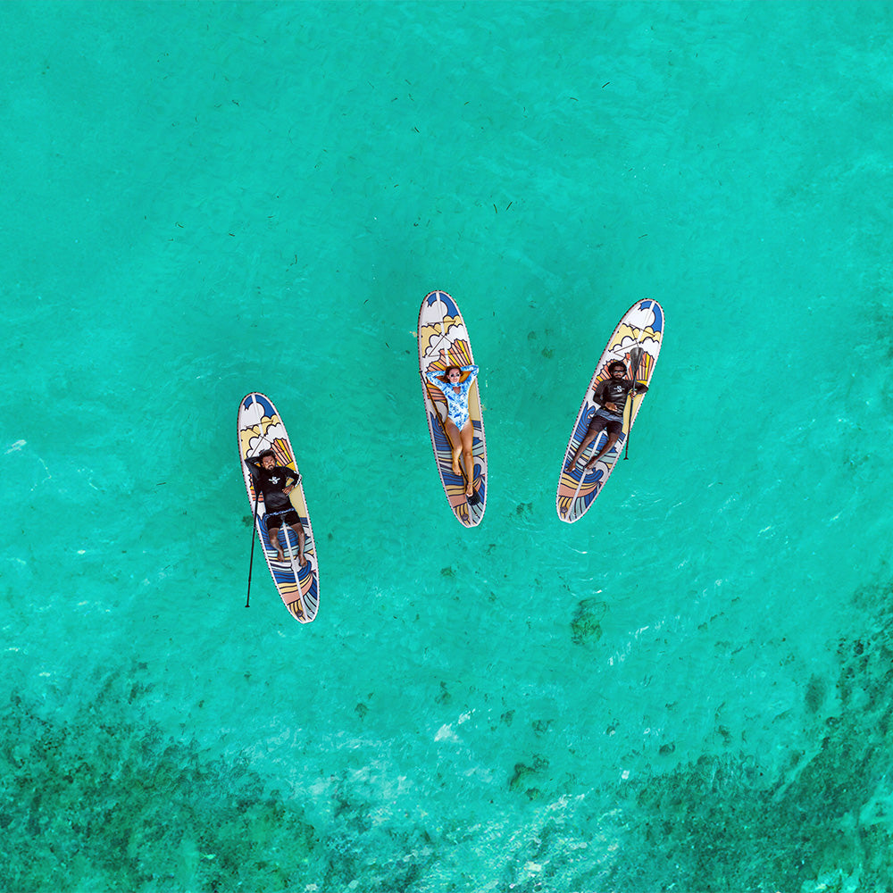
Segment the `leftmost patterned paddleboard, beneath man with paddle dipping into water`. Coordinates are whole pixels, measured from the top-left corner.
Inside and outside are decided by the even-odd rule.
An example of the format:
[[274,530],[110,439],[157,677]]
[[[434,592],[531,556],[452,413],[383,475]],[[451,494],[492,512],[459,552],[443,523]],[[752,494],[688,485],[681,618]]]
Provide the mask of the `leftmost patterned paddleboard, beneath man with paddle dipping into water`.
[[[248,507],[255,511],[255,485],[246,459],[271,449],[276,454],[276,464],[297,472],[295,451],[291,448],[288,432],[270,397],[251,393],[238,405],[238,456],[242,476],[248,493]],[[316,563],[316,542],[310,526],[310,513],[304,487],[299,481],[288,495],[304,527],[304,555],[307,563],[301,567],[297,558],[297,535],[287,524],[280,527],[280,543],[285,561],[276,557],[276,547],[271,544],[264,521],[263,496],[257,501],[257,536],[263,547],[263,556],[282,602],[297,621],[310,623],[320,606],[319,566]],[[288,539],[288,542],[286,541]]]

